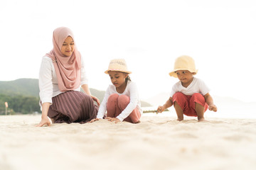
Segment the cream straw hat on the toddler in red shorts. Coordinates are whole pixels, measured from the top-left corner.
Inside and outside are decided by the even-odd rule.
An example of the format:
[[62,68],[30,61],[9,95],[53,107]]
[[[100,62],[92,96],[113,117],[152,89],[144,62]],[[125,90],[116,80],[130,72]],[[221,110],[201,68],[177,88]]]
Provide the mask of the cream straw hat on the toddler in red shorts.
[[193,73],[194,75],[197,74],[198,69],[196,69],[195,62],[192,57],[187,55],[182,55],[181,57],[176,58],[174,62],[174,71],[170,72],[169,75],[171,77],[176,77],[177,74],[175,73],[178,70],[188,70],[189,72]]

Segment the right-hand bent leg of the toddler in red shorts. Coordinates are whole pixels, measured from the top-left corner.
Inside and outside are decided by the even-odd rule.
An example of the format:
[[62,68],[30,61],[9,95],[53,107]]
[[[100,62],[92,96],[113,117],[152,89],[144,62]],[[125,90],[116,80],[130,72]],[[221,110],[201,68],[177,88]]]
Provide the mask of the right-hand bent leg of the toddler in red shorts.
[[201,94],[193,94],[190,100],[191,107],[195,109],[196,114],[198,115],[198,121],[203,121],[204,113],[208,109],[208,104],[206,103],[206,99]]

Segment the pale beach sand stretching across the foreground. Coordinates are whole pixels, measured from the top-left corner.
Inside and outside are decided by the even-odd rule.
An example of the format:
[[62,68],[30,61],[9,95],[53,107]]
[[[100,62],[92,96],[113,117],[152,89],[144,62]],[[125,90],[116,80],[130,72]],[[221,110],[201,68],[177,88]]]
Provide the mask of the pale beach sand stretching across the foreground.
[[256,120],[144,114],[142,123],[0,116],[0,169],[256,169]]

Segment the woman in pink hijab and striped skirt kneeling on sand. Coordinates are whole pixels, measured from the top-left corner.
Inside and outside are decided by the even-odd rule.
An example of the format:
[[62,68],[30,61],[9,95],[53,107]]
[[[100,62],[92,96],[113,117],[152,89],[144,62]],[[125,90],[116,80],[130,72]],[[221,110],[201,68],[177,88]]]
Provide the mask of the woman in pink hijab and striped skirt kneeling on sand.
[[49,118],[53,123],[87,123],[96,118],[100,100],[90,94],[82,57],[69,28],[53,31],[53,50],[43,57],[39,89],[42,117],[37,126],[50,125]]

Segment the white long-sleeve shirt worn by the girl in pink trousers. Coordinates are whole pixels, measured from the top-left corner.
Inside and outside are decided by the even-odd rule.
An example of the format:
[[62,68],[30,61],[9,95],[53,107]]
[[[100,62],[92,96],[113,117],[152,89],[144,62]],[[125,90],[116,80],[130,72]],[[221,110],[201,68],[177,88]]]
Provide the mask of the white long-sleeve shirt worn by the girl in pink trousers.
[[99,111],[97,113],[97,118],[103,118],[104,114],[107,111],[107,100],[111,94],[118,94],[119,96],[124,94],[126,96],[129,96],[130,102],[127,105],[127,107],[120,113],[117,118],[120,121],[123,121],[125,118],[128,117],[130,113],[134,110],[134,108],[138,108],[139,112],[142,114],[142,108],[141,108],[141,103],[139,101],[139,93],[137,90],[137,86],[133,81],[128,81],[127,86],[122,94],[119,94],[117,92],[116,87],[113,84],[110,84],[108,86],[107,91],[105,93],[105,96],[103,98],[102,103],[100,104]]

